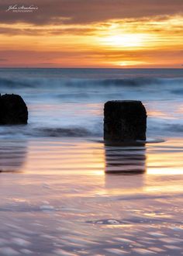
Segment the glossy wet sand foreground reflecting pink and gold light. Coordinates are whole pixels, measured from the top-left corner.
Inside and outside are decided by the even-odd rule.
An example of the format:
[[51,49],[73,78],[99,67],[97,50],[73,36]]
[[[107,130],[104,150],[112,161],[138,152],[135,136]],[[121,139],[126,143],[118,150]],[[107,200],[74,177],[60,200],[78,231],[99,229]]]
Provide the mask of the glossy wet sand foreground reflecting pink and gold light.
[[182,254],[182,139],[0,145],[0,255]]

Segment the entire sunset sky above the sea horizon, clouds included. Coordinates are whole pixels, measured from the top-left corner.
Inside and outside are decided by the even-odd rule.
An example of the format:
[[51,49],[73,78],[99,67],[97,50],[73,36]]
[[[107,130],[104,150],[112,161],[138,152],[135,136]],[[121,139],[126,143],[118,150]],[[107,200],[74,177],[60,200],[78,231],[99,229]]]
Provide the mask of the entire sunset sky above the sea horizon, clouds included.
[[183,0],[0,0],[0,67],[181,68]]

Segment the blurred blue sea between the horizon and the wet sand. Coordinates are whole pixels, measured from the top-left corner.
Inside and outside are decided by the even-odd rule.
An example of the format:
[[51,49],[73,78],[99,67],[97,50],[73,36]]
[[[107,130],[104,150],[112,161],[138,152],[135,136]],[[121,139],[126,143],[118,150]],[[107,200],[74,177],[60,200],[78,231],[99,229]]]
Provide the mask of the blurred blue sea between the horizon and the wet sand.
[[147,137],[183,132],[182,69],[1,68],[0,92],[22,95],[29,124],[0,127],[0,137],[102,137],[103,105],[141,100]]

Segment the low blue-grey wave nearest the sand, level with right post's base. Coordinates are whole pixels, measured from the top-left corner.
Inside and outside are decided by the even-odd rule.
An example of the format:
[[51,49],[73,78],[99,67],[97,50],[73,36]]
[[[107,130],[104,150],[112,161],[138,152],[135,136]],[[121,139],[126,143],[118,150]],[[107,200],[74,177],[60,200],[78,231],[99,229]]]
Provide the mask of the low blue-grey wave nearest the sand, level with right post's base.
[[[178,123],[162,123],[161,126],[157,125],[154,132],[154,127],[148,126],[147,129],[147,143],[161,143],[164,141],[164,135],[171,135],[171,137],[181,137],[183,132],[182,124]],[[51,126],[1,126],[1,137],[102,137],[103,130],[102,124],[98,126],[88,127],[84,126],[63,126],[63,127],[51,127]],[[157,139],[161,137],[161,139]]]

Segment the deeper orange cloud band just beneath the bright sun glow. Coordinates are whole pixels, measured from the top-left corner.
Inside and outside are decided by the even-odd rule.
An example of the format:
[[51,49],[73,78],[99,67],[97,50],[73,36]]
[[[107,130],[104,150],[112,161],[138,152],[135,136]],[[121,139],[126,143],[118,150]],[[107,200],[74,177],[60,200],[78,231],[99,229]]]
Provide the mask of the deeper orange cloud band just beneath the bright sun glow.
[[[37,64],[64,64],[64,61],[79,61],[85,59],[88,61],[152,61],[152,60],[182,60],[183,50],[77,50],[71,51],[36,51],[36,50],[0,50],[0,55],[3,56],[0,60],[18,61],[19,63],[37,63]],[[7,58],[4,58],[7,57]]]

